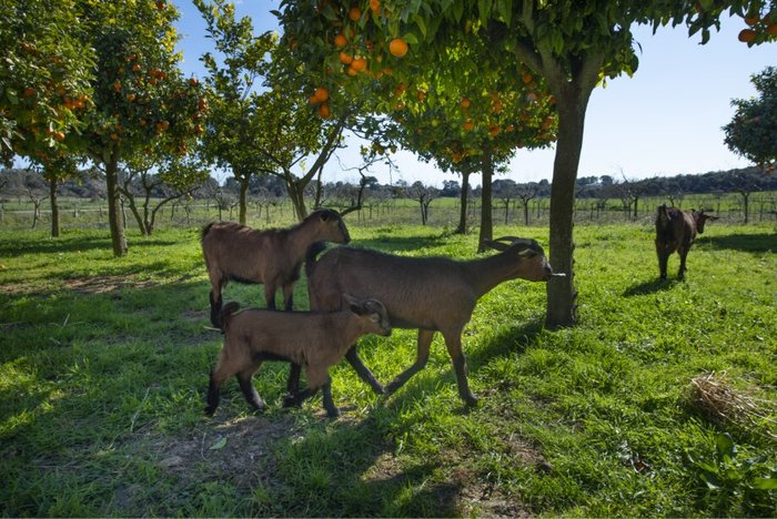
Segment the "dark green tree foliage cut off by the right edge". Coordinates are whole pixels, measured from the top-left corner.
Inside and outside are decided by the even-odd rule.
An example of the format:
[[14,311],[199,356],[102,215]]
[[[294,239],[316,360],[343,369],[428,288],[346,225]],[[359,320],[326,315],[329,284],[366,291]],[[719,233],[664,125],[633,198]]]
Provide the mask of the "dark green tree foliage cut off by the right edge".
[[723,126],[724,142],[759,169],[771,173],[777,166],[777,68],[768,67],[750,78],[758,96],[734,99],[734,119]]

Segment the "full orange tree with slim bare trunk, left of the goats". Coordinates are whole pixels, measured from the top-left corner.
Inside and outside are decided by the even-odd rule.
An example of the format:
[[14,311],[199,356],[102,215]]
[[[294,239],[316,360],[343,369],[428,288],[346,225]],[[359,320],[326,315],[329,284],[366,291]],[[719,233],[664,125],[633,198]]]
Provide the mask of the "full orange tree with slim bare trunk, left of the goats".
[[[138,152],[184,155],[202,131],[206,103],[200,83],[184,79],[174,52],[178,11],[165,0],[81,0],[81,38],[94,49],[92,98],[79,132],[63,142],[105,174],[113,254],[127,253],[119,164]],[[152,144],[153,143],[153,144]]]

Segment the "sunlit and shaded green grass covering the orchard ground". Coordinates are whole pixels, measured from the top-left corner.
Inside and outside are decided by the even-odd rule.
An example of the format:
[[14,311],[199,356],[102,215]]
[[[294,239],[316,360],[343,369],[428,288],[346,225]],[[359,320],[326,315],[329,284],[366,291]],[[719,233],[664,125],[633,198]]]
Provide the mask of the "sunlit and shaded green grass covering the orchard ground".
[[[480,302],[464,333],[477,408],[462,406],[437,336],[426,369],[390,398],[334,368],[344,413],[329,420],[320,397],[280,407],[280,363],[254,379],[266,411],[250,413],[230,380],[203,416],[221,335],[208,327],[195,230],[130,231],[120,260],[105,231],[2,231],[0,513],[774,516],[775,227],[717,222],[687,279],[673,278],[673,256],[664,283],[652,233],[577,227],[575,328],[543,327],[541,284],[508,282]],[[542,227],[500,234],[547,243]],[[476,241],[420,226],[352,236],[458,257]],[[304,279],[295,301],[306,306]],[[385,383],[412,363],[414,339],[395,330],[360,352]],[[699,377],[758,414],[716,419],[697,405]]]

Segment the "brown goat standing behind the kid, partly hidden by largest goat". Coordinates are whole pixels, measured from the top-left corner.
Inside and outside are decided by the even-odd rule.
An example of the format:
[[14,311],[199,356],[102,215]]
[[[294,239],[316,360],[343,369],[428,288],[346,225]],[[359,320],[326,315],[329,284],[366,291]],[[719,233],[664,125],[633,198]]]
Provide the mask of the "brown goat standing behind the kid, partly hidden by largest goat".
[[283,289],[285,309],[293,306],[294,283],[305,252],[314,242],[349,243],[351,236],[336,211],[317,210],[291,228],[256,231],[232,222],[213,222],[202,230],[202,252],[211,279],[211,323],[221,328],[222,292],[229,281],[263,283],[268,308]]

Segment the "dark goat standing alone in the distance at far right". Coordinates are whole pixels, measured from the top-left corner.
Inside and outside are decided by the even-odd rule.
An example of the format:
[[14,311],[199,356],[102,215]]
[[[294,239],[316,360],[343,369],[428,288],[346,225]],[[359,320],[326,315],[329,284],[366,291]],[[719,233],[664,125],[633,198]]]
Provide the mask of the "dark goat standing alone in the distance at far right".
[[656,215],[656,253],[658,254],[658,271],[660,278],[666,279],[666,266],[669,255],[677,251],[680,257],[680,267],[677,277],[685,277],[685,260],[694,244],[696,233],[704,233],[704,224],[707,220],[718,220],[717,216],[704,214],[704,211],[683,211],[676,207],[658,206]]

